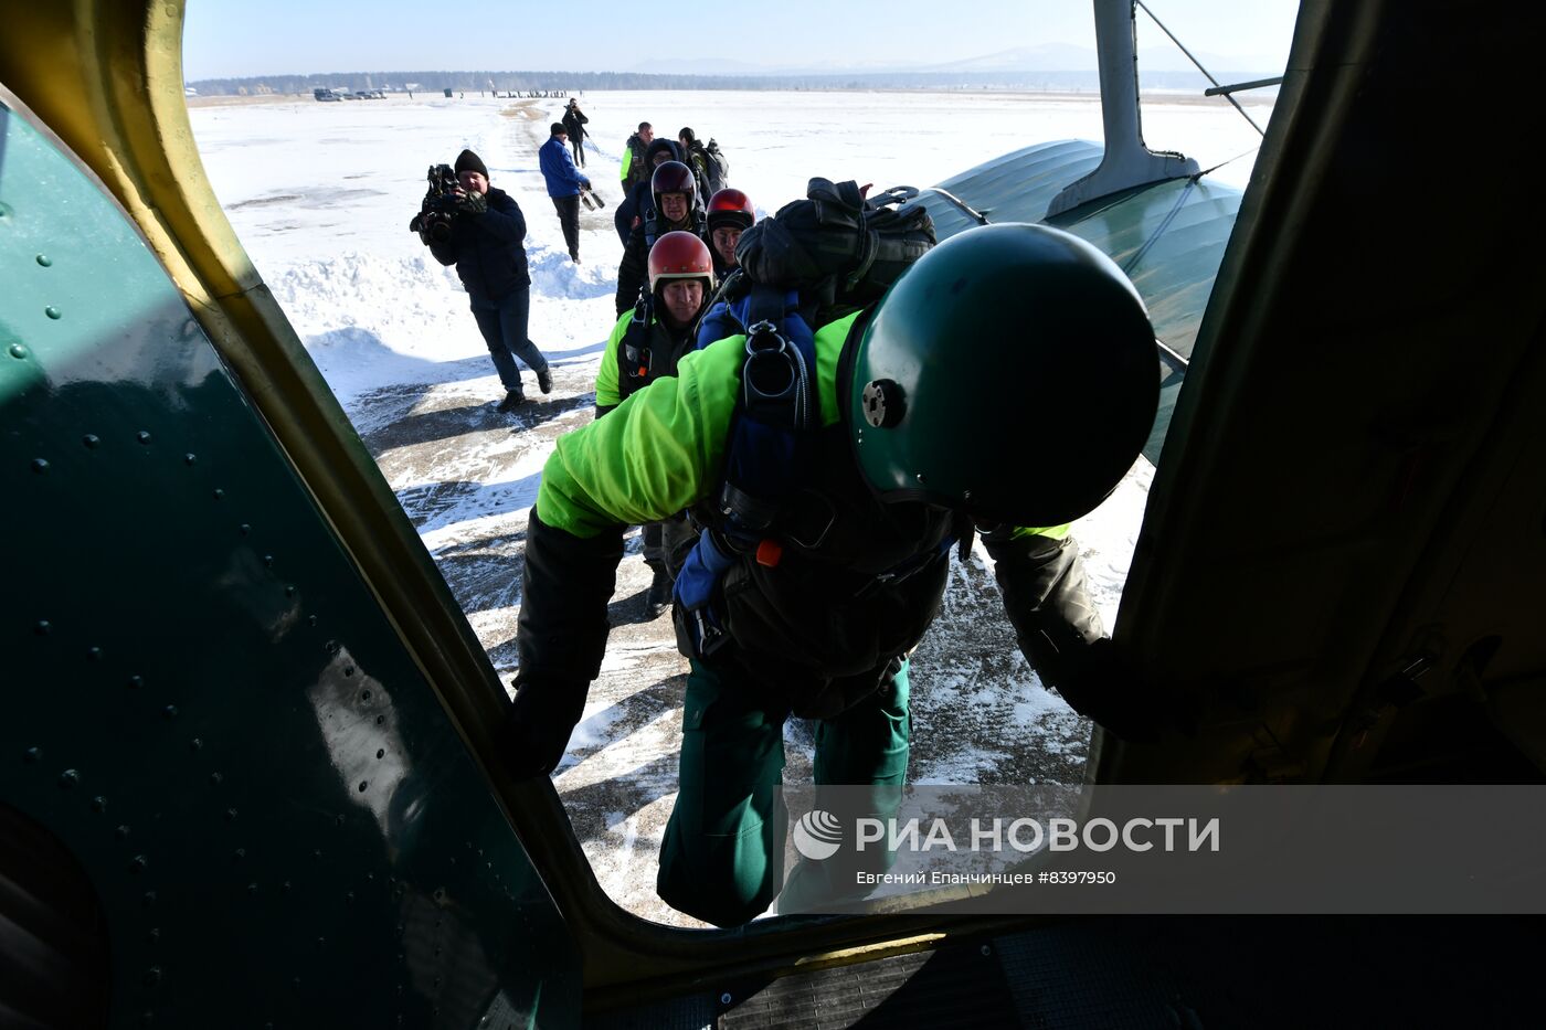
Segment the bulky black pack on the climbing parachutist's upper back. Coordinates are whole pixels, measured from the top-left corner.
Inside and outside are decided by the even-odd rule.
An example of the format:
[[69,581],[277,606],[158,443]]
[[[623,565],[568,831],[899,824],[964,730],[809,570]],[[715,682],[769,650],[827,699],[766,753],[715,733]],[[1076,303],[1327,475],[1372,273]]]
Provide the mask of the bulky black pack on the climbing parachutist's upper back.
[[852,179],[810,179],[805,200],[742,234],[741,268],[756,283],[799,291],[802,306],[873,303],[935,243],[929,212],[898,210],[901,200],[895,189],[866,200]]

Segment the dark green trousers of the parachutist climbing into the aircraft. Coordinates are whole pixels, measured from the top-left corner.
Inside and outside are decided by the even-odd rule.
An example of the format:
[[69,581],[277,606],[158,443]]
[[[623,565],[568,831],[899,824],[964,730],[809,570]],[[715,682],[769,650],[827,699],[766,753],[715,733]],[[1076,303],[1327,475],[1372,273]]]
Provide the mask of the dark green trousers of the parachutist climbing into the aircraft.
[[[737,926],[784,889],[781,908],[813,899],[863,897],[852,868],[802,860],[784,883],[788,813],[784,721],[756,687],[691,663],[682,713],[680,790],[660,844],[656,891],[671,908],[716,926]],[[816,724],[816,784],[870,784],[900,801],[908,776],[908,665],[835,719]],[[895,801],[890,803],[895,812]],[[884,815],[884,813],[881,813]],[[873,852],[872,852],[873,854]],[[889,863],[881,855],[880,861]],[[847,880],[844,883],[843,880]]]

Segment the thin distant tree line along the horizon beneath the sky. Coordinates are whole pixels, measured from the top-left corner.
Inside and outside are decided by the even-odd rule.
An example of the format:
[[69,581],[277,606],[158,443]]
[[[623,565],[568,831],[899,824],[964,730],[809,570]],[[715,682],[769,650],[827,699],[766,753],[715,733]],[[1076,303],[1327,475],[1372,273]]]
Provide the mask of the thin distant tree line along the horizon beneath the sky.
[[[1220,80],[1255,73],[1218,73]],[[1207,80],[1190,71],[1152,71],[1139,76],[1146,88],[1197,90]],[[441,93],[521,93],[547,96],[586,90],[1050,90],[1098,91],[1095,71],[869,71],[863,74],[785,76],[677,76],[625,71],[332,71],[309,76],[258,76],[189,82],[201,96],[255,93],[306,94],[318,87],[337,90],[404,90]]]

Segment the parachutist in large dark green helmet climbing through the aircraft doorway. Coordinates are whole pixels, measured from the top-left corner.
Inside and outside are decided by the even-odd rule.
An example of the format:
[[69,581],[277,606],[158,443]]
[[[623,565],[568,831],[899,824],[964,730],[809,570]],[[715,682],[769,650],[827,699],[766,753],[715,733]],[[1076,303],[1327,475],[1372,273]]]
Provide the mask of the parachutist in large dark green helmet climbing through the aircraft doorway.
[[[705,524],[677,577],[690,674],[657,891],[720,926],[756,917],[781,885],[779,911],[870,889],[836,860],[801,860],[784,883],[782,727],[792,713],[821,719],[818,784],[900,796],[908,654],[976,526],[994,527],[1005,611],[1042,680],[1102,724],[1139,693],[1113,674],[1119,653],[1078,549],[1034,529],[1091,510],[1153,422],[1153,331],[1121,269],[1045,226],[969,229],[805,339],[815,359],[798,363],[799,382],[812,393],[795,396],[812,404],[796,408],[807,421],[784,469],[793,481],[771,513],[751,520],[770,498],[733,492],[747,486],[733,433],[745,382],[788,380],[796,363],[733,336],[560,438],[527,526],[519,673],[501,728],[518,778],[558,764],[600,671],[623,524],[685,507]],[[756,360],[784,373],[764,376],[778,368]]]

